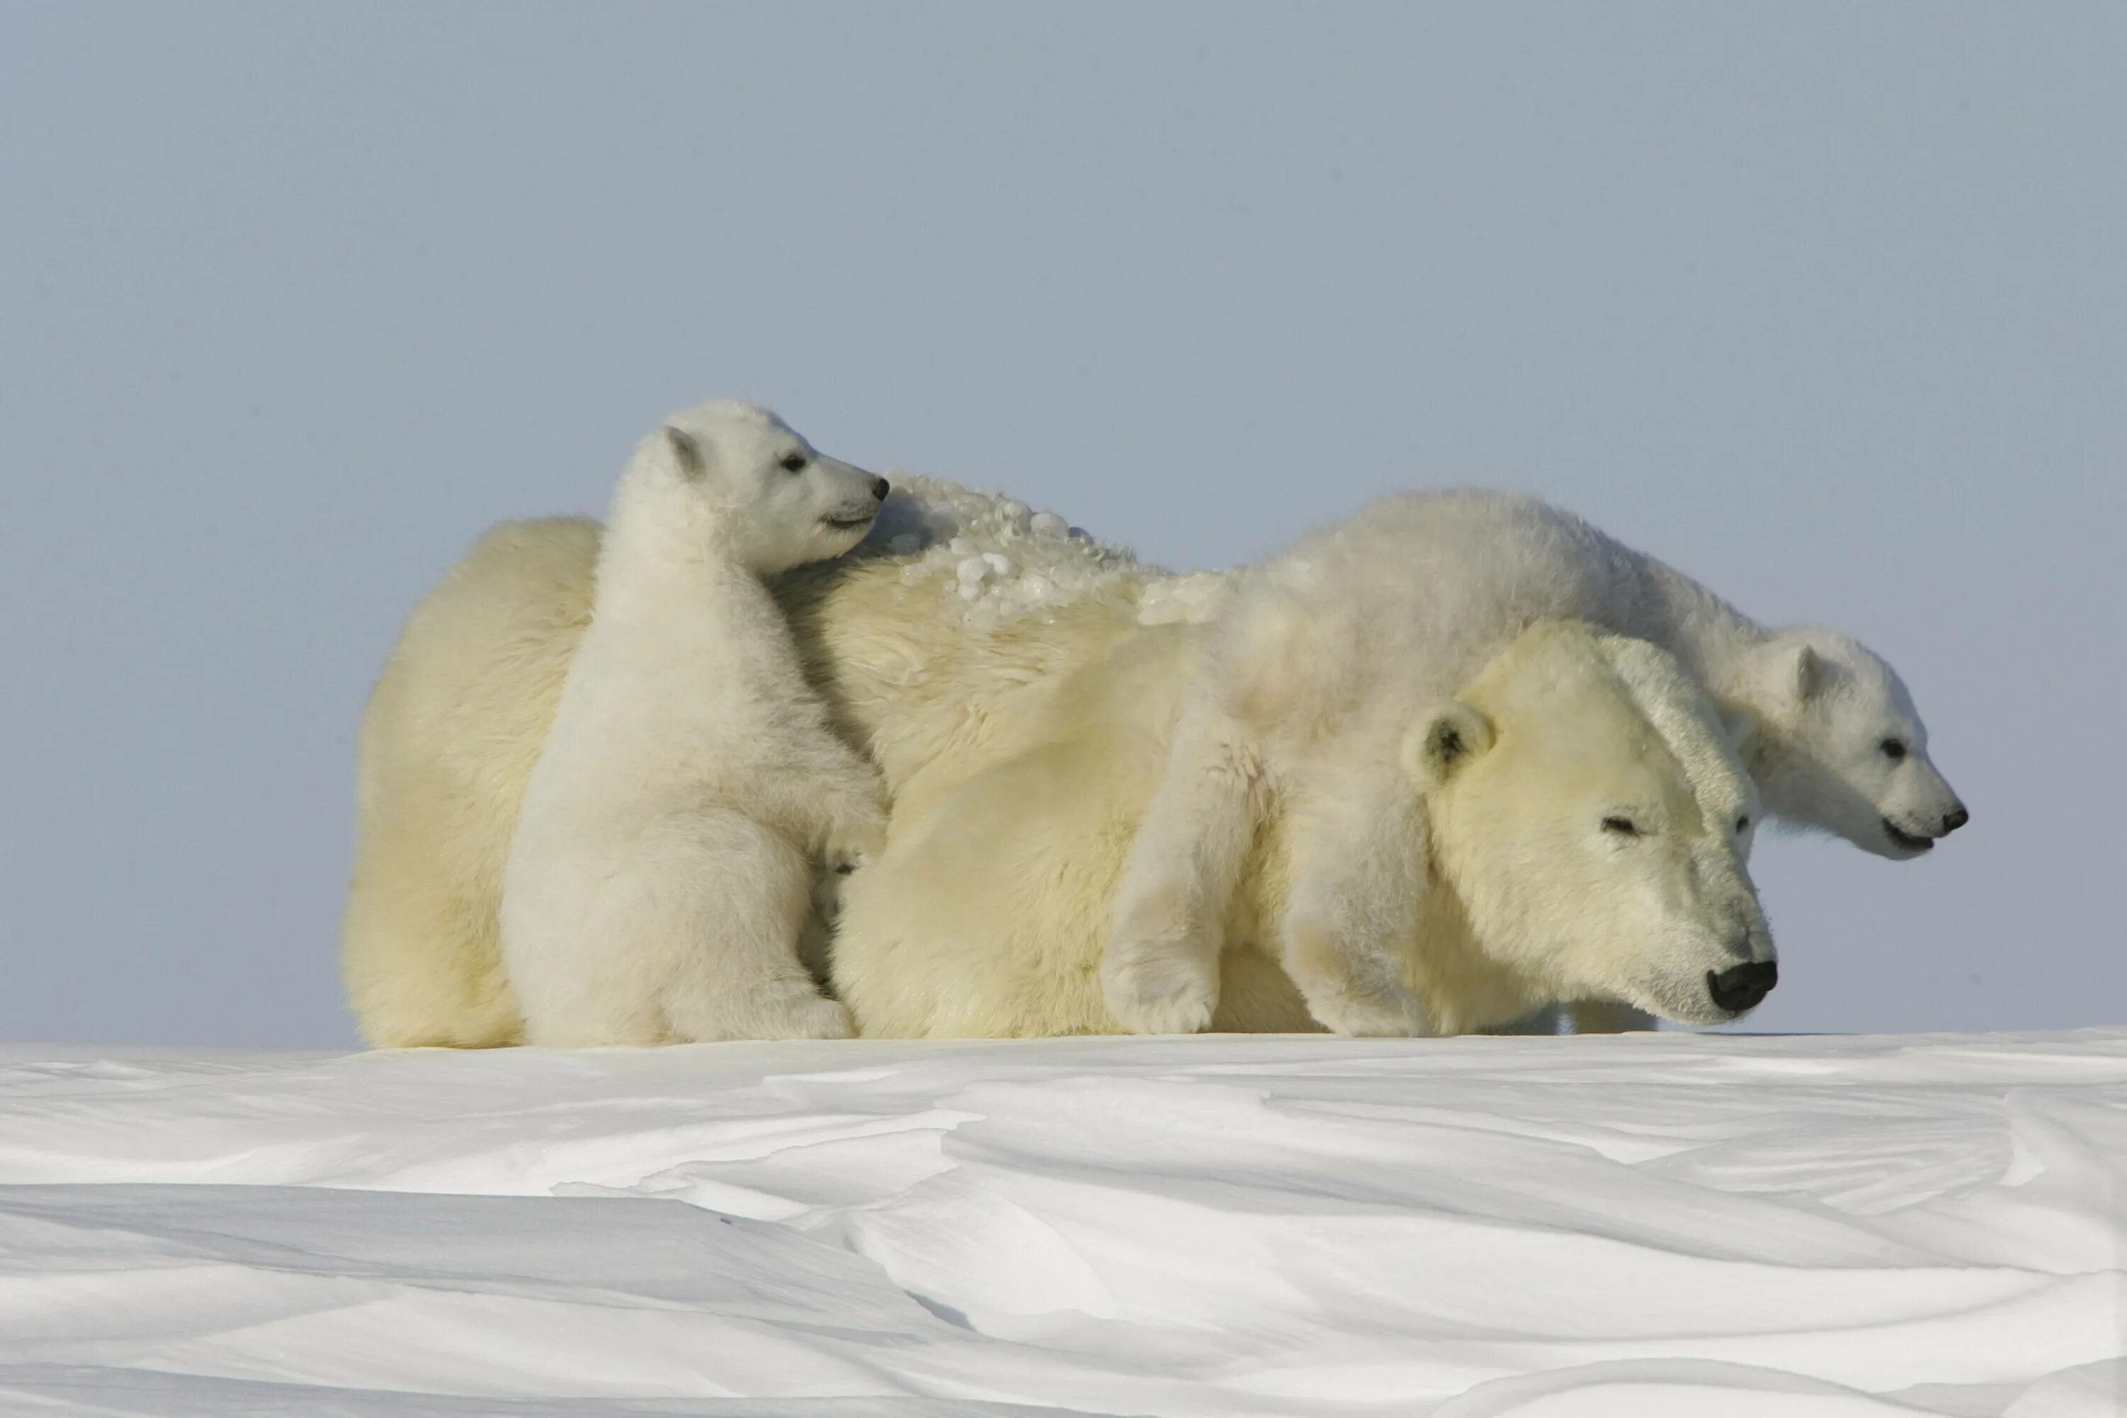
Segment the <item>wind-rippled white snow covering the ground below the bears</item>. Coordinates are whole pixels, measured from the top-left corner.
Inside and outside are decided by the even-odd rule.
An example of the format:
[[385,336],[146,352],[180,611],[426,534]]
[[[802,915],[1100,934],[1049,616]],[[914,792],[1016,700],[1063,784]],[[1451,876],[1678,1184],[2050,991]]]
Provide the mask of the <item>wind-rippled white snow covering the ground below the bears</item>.
[[0,1050],[0,1412],[2127,1412],[2127,1029]]

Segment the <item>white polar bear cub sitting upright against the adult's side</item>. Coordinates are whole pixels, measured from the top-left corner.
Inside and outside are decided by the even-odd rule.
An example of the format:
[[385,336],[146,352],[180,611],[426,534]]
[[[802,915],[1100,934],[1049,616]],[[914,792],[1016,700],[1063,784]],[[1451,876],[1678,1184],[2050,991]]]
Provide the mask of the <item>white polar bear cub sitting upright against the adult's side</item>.
[[502,876],[525,1042],[849,1035],[798,938],[815,863],[881,848],[883,787],[761,576],[853,548],[885,495],[753,404],[636,446]]

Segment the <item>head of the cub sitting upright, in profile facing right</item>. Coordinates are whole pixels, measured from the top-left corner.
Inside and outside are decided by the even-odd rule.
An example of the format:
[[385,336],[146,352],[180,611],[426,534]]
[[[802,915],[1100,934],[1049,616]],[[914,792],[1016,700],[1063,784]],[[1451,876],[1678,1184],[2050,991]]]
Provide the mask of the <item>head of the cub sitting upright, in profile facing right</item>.
[[653,523],[659,536],[713,546],[770,576],[842,555],[885,500],[885,478],[823,457],[759,404],[710,400],[636,446],[615,523]]

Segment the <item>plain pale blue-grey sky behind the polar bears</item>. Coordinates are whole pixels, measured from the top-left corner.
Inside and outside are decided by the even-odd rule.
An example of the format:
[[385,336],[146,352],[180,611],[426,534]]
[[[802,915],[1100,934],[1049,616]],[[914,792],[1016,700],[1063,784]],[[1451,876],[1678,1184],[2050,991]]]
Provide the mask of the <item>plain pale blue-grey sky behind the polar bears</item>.
[[0,1037],[351,1042],[353,729],[710,393],[1176,565],[1521,487],[1910,680],[1759,1029],[2127,1020],[2127,6],[0,6]]

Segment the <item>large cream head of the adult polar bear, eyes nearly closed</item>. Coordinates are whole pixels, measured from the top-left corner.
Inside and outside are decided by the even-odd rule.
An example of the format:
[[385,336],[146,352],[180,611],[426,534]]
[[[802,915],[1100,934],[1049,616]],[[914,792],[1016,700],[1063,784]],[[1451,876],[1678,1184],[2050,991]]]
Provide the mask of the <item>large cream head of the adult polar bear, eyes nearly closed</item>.
[[1540,623],[1419,721],[1404,767],[1470,935],[1557,999],[1716,1025],[1774,986],[1744,867],[1757,789],[1655,646]]

